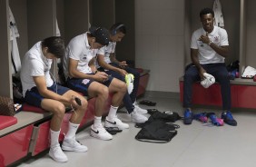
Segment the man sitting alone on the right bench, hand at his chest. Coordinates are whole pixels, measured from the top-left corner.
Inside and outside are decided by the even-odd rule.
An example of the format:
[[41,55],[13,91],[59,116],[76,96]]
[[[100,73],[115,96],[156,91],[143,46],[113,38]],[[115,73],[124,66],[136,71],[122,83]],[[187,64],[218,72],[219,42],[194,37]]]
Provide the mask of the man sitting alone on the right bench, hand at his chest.
[[192,34],[191,57],[192,65],[184,74],[183,107],[184,123],[192,123],[192,83],[205,79],[204,73],[212,74],[221,84],[222,119],[224,123],[236,126],[237,122],[231,114],[231,85],[225,65],[225,58],[229,55],[229,41],[226,30],[214,26],[214,13],[211,8],[204,8],[200,12],[202,28]]

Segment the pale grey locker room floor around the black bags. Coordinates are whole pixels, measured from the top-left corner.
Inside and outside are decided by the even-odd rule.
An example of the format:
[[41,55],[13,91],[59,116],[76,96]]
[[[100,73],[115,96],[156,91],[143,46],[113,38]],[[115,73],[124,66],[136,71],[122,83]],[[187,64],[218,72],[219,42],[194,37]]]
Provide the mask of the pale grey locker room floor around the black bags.
[[[177,96],[146,95],[144,99],[156,102],[160,111],[175,111],[182,114],[182,103]],[[139,99],[140,102],[143,99]],[[125,109],[121,109],[125,111]],[[194,112],[215,112],[218,109],[196,108]],[[66,152],[69,162],[58,163],[43,156],[22,162],[19,167],[72,166],[72,167],[255,167],[256,166],[256,112],[236,110],[233,116],[238,126],[193,121],[184,125],[168,143],[138,142],[134,136],[140,129],[134,127],[125,113],[119,113],[123,122],[130,123],[130,129],[114,135],[112,141],[100,141],[89,135],[89,128],[77,133],[76,139],[86,146],[88,152]]]

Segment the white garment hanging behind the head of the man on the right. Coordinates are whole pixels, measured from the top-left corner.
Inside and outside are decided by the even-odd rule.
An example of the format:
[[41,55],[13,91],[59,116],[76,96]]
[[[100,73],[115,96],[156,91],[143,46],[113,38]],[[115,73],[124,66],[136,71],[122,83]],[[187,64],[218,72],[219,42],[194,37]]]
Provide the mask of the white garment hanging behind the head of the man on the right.
[[214,15],[215,15],[214,16],[215,17],[214,25],[224,28],[224,18],[223,18],[223,15],[222,15],[222,5],[221,5],[221,2],[219,0],[214,0],[212,10],[213,10]]

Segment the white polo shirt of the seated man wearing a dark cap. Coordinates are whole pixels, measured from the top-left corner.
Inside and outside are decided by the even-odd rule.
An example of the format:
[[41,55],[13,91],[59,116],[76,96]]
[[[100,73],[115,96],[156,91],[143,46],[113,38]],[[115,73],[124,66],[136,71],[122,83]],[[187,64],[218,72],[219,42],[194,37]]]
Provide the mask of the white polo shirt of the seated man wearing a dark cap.
[[68,65],[69,59],[78,61],[77,70],[84,74],[91,74],[92,69],[89,62],[96,56],[98,49],[91,49],[87,38],[88,32],[75,36],[67,45],[64,54],[64,75],[69,76]]

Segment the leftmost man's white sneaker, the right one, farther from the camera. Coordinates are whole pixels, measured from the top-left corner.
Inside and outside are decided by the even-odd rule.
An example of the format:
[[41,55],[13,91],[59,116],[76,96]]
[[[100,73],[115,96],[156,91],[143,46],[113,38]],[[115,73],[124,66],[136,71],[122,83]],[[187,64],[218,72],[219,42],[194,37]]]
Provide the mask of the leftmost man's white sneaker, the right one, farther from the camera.
[[64,151],[70,151],[70,152],[87,152],[88,150],[88,148],[85,145],[75,141],[75,139],[64,140],[62,149]]

